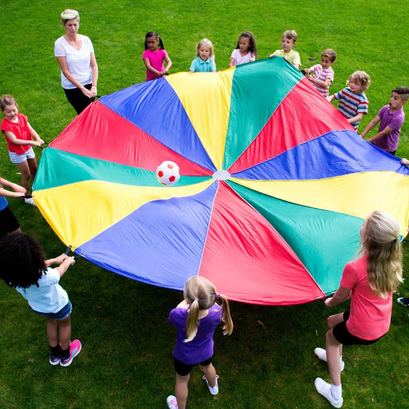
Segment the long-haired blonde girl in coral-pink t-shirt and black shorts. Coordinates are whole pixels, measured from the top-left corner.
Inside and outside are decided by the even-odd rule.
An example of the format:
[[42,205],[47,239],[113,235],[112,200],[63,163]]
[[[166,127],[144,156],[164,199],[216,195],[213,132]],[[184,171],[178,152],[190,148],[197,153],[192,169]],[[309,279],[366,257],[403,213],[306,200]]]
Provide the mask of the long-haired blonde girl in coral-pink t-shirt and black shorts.
[[342,345],[369,345],[389,330],[392,293],[402,283],[402,249],[400,226],[382,211],[371,213],[361,227],[360,258],[344,267],[338,290],[326,299],[333,307],[351,297],[351,309],[327,319],[325,346],[315,348],[319,359],[328,362],[331,383],[315,379],[318,393],[336,408],[342,406]]

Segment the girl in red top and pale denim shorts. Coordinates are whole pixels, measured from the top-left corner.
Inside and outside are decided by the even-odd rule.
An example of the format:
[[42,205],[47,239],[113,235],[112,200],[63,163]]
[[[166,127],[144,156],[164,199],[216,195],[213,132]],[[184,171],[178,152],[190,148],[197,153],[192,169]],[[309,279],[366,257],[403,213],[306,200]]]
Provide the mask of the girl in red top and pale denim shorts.
[[[0,98],[0,108],[4,115],[1,131],[6,137],[10,160],[21,173],[22,187],[29,191],[29,180],[34,180],[37,172],[36,155],[31,146],[41,146],[44,141],[28,123],[27,117],[18,112],[17,102],[11,95]],[[25,202],[36,206],[32,198],[26,198]]]

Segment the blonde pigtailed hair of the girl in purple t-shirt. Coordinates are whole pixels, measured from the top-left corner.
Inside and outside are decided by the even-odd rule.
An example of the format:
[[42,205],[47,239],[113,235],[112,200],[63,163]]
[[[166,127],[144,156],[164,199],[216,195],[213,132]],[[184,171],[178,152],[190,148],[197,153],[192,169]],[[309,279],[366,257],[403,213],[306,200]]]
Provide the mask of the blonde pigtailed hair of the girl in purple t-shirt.
[[189,342],[198,332],[198,317],[200,310],[211,308],[218,299],[222,301],[220,310],[222,311],[223,335],[230,335],[233,331],[233,321],[231,320],[229,300],[223,294],[217,294],[216,287],[204,277],[190,277],[183,290],[183,297],[189,300],[190,308],[186,319],[187,338],[184,342]]

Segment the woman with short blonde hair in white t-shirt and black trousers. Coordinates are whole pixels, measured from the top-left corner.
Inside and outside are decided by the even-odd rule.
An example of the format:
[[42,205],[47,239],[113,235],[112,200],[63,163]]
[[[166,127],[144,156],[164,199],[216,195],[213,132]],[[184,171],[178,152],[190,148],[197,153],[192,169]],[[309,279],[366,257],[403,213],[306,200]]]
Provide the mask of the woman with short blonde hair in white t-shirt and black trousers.
[[61,22],[66,33],[54,43],[54,55],[61,68],[65,95],[80,114],[97,95],[98,65],[91,40],[78,34],[78,11],[64,10]]

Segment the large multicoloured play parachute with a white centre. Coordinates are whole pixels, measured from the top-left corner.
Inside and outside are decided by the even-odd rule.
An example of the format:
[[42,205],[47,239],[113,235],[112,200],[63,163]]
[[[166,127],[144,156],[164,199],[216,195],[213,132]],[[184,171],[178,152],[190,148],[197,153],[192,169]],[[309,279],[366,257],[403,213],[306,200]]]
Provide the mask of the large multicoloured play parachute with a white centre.
[[[155,169],[178,164],[166,187]],[[34,200],[92,263],[181,290],[297,304],[336,290],[373,210],[406,236],[409,169],[283,58],[180,72],[102,97],[45,149]]]

